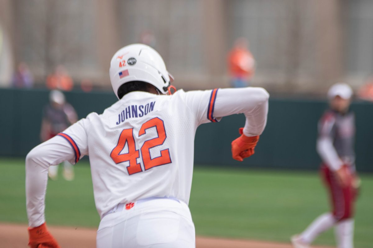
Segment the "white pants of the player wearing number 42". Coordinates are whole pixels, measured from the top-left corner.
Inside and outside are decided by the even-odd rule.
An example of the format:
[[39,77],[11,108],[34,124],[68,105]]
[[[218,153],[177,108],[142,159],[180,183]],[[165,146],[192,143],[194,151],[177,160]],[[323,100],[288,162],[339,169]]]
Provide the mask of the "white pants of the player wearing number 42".
[[126,209],[119,204],[97,231],[97,248],[195,248],[188,206],[176,199],[151,198]]

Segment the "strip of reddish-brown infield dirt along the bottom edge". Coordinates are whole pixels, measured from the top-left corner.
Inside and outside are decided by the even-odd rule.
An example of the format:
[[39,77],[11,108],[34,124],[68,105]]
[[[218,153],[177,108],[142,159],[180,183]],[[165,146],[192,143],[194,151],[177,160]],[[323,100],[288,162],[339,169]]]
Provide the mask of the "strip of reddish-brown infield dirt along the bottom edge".
[[[48,226],[61,247],[95,247],[96,230],[89,228]],[[0,248],[24,248],[28,242],[27,226],[0,223]],[[197,248],[292,248],[290,244],[264,241],[197,237]],[[327,247],[314,247],[327,248]]]

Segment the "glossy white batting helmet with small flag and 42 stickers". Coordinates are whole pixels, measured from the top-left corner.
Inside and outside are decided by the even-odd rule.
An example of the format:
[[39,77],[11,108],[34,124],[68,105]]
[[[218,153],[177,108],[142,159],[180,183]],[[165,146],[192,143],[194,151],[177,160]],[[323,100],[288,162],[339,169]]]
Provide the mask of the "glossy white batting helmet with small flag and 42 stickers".
[[110,62],[109,74],[117,97],[119,87],[131,81],[152,84],[163,94],[166,94],[173,81],[161,55],[144,44],[132,44],[119,49]]

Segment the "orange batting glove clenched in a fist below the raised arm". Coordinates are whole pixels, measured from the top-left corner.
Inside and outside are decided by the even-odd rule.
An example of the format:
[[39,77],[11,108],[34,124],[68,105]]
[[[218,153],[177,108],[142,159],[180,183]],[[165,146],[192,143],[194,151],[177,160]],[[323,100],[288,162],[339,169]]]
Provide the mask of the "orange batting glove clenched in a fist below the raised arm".
[[239,136],[232,141],[232,157],[238,161],[244,161],[244,158],[254,154],[254,148],[259,140],[259,135],[248,137],[243,134],[243,128],[239,129]]

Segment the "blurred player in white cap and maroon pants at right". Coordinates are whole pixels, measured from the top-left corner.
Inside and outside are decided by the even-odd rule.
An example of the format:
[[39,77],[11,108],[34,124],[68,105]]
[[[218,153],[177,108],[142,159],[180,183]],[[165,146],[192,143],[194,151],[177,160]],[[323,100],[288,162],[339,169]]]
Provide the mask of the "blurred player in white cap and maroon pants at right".
[[333,226],[338,248],[354,247],[354,202],[360,179],[355,173],[355,116],[349,110],[351,98],[352,89],[344,83],[334,84],[328,91],[330,109],[319,121],[317,152],[323,161],[321,172],[332,210],[292,237],[295,248],[308,248],[320,233]]

